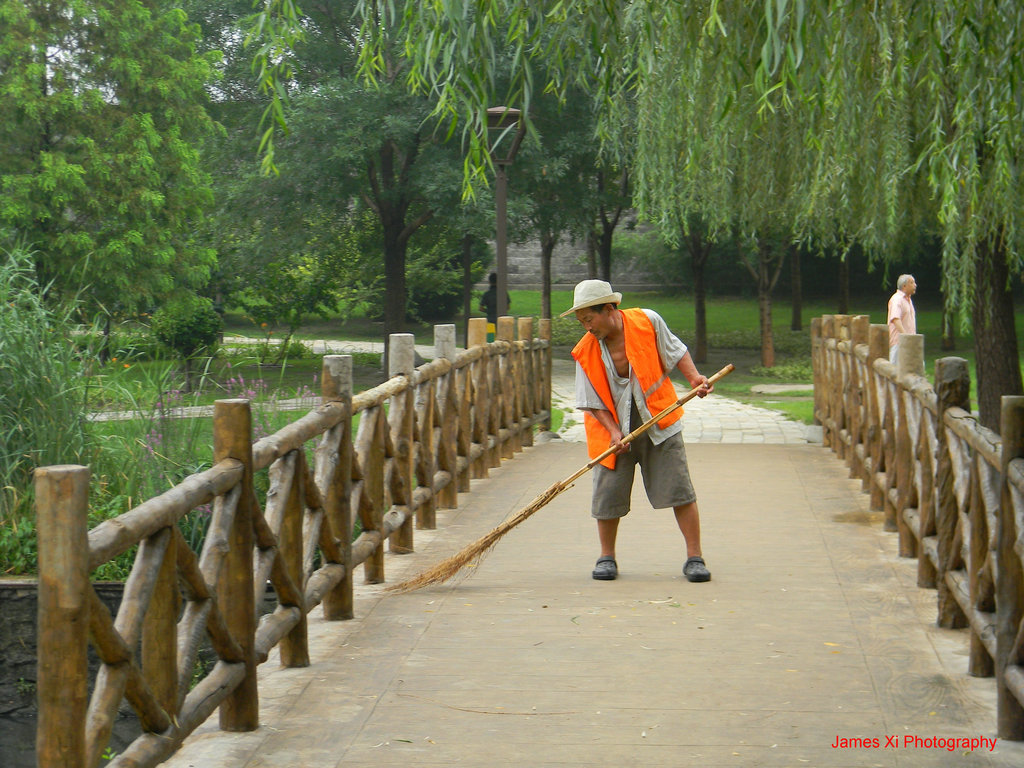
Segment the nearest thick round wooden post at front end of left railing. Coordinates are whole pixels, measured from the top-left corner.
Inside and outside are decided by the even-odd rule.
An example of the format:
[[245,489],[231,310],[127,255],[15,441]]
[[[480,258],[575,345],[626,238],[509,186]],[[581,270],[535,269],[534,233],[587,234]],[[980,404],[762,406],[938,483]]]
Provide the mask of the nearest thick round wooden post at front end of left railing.
[[85,768],[89,637],[89,468],[35,472],[39,547],[36,764]]

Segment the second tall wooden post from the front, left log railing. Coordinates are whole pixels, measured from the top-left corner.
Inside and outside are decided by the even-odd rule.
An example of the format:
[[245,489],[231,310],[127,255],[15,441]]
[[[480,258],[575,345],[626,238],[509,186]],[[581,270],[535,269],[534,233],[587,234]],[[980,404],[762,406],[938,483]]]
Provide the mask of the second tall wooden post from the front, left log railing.
[[213,463],[242,463],[242,493],[228,538],[217,602],[224,623],[245,657],[246,676],[220,705],[220,728],[251,731],[259,727],[256,682],[256,603],[253,595],[253,452],[249,400],[217,400],[213,406]]

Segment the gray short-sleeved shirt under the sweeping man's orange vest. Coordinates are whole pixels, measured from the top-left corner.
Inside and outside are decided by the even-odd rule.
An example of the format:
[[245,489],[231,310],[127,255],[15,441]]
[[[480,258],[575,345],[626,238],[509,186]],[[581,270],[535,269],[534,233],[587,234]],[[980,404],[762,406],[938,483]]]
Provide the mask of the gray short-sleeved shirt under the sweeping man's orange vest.
[[[662,319],[662,315],[653,309],[644,309],[643,311],[654,327],[654,336],[657,339],[657,354],[662,358],[662,371],[671,371],[679,365],[679,360],[686,354],[686,345],[669,330],[665,321]],[[643,420],[641,423],[649,421],[653,414],[647,408],[647,398],[640,387],[640,380],[633,373],[633,366],[630,366],[628,376],[620,376],[615,372],[614,364],[611,361],[611,353],[608,351],[608,345],[603,340],[598,343],[601,345],[601,360],[604,362],[604,370],[608,376],[611,399],[615,403],[615,414],[618,417],[620,428],[623,430],[623,434],[628,434],[640,426],[640,424],[630,424],[630,406],[633,402],[637,403],[637,412]],[[595,411],[608,410],[607,406],[598,396],[594,385],[590,383],[587,374],[584,373],[583,366],[579,362],[577,362],[575,397],[577,408],[587,408]],[[682,422],[677,420],[665,429],[653,424],[647,430],[646,434],[650,437],[650,441],[656,445],[672,435],[681,432],[682,429]]]

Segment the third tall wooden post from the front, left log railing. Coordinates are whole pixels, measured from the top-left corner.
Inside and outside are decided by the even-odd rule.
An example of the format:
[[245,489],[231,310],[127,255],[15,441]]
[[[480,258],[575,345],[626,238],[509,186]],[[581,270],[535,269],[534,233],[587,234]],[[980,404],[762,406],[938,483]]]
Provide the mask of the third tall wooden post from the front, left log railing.
[[355,615],[352,598],[352,355],[324,357],[321,396],[324,402],[341,402],[345,408],[344,417],[316,449],[317,474],[327,475],[328,480],[325,486],[324,478],[316,478],[324,500],[325,523],[338,542],[345,566],[345,578],[324,596],[324,617],[334,622]]

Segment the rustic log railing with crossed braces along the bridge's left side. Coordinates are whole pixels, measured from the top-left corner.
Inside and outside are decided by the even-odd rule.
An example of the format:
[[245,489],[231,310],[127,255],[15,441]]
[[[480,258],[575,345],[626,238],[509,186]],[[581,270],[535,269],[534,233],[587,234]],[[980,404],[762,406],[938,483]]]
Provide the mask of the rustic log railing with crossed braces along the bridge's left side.
[[[308,666],[308,613],[323,605],[328,621],[352,618],[357,565],[383,582],[385,542],[412,552],[436,507],[455,508],[471,477],[550,424],[550,323],[535,338],[529,319],[503,317],[485,343],[474,318],[458,354],[455,326],[438,326],[435,359],[419,368],[413,337],[393,335],[391,378],[354,395],[351,357],[326,356],[323,404],[255,443],[250,402],[219,400],[213,466],[91,530],[88,468],[38,469],[38,765],[98,765],[125,699],[142,734],[112,766],[157,765],[218,708],[222,729],[255,729],[256,669],[271,649],[285,667]],[[254,478],[264,472],[261,502]],[[177,522],[211,502],[194,552]],[[112,616],[89,574],[136,545]],[[259,617],[268,584],[278,606]],[[100,659],[91,695],[90,640]],[[216,663],[195,682],[204,642]]]

